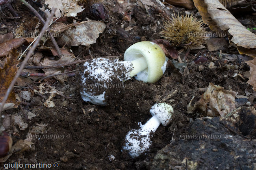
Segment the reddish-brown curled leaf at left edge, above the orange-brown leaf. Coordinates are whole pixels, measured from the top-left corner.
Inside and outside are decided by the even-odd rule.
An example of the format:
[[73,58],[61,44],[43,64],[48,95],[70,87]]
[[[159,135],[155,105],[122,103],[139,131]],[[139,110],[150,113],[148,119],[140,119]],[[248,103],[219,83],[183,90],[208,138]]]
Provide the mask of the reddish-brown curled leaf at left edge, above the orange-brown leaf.
[[33,40],[34,40],[33,38],[15,38],[15,39],[8,40],[4,43],[1,43],[0,44],[0,57],[4,57],[4,56],[8,55],[9,52],[11,51],[11,49],[18,48],[19,46],[24,44],[24,42],[30,43]]

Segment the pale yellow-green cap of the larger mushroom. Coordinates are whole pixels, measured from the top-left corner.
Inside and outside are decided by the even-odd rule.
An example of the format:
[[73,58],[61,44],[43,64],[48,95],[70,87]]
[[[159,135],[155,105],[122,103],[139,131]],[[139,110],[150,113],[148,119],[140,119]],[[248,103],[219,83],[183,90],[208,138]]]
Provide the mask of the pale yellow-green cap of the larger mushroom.
[[124,53],[124,60],[132,61],[140,57],[145,57],[148,68],[137,73],[135,79],[154,83],[159,80],[166,69],[165,53],[160,46],[150,41],[141,41],[133,44]]

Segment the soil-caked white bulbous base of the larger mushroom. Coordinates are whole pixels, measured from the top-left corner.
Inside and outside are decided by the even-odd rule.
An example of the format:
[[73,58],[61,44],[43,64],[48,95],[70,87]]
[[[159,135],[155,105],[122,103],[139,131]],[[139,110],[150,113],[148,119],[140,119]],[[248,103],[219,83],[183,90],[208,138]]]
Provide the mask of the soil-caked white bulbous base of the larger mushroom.
[[83,101],[106,106],[106,94],[110,88],[122,88],[130,79],[131,62],[119,62],[109,58],[95,58],[83,64],[80,91]]

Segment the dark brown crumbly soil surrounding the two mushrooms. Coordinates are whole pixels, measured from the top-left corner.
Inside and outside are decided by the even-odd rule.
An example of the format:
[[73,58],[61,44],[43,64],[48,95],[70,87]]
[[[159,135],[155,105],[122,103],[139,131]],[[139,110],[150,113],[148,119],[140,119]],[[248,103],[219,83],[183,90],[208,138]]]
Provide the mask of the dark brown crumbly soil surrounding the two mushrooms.
[[[127,22],[122,20],[122,15],[114,10],[114,2],[106,1],[105,5],[109,10],[108,22],[105,21],[107,28],[104,35],[98,38],[97,43],[90,47],[93,57],[123,56],[124,51],[135,42],[161,38],[158,33],[161,30],[164,16],[167,16],[164,11],[158,11],[152,7],[152,10],[147,13],[145,9],[134,6],[132,21]],[[185,11],[185,9],[176,7],[171,8],[169,12],[172,13],[173,10]],[[16,24],[19,25],[26,20],[26,17],[31,17],[33,14],[28,14],[25,9],[21,8],[19,15],[21,16],[20,20],[3,22],[8,32],[11,32]],[[157,24],[158,21],[160,26]],[[124,29],[127,27],[132,27],[132,31],[125,31]],[[87,50],[85,51],[85,49]],[[89,58],[89,51],[86,47],[74,47],[72,51],[75,56],[85,51],[79,58]],[[185,56],[185,52],[180,54],[181,58]],[[82,100],[78,74],[75,77],[70,77],[64,84],[56,83],[54,78],[45,79],[45,82],[50,85],[54,84],[54,88],[72,99],[56,95],[53,99],[55,106],[47,108],[43,106],[45,99],[32,93],[31,101],[20,104],[22,110],[17,108],[3,112],[6,116],[21,115],[24,122],[28,123],[28,128],[19,130],[19,127],[15,125],[7,131],[13,136],[13,143],[16,143],[19,139],[26,139],[29,129],[32,129],[37,123],[44,123],[48,124],[44,132],[45,135],[59,134],[63,138],[39,139],[35,137],[33,139],[34,150],[13,154],[6,163],[50,163],[52,165],[58,163],[59,166],[55,169],[62,170],[150,169],[157,152],[171,142],[174,130],[176,136],[179,136],[186,132],[186,127],[191,120],[205,116],[199,112],[188,114],[187,105],[193,96],[195,96],[194,101],[198,101],[204,92],[202,88],[206,88],[210,82],[222,86],[226,90],[236,91],[240,95],[245,95],[245,90],[253,93],[252,87],[247,84],[248,77],[245,76],[245,79],[233,77],[235,73],[245,75],[249,71],[249,66],[244,63],[241,55],[237,55],[234,49],[226,48],[224,52],[228,54],[224,55],[219,51],[210,52],[205,49],[191,51],[186,60],[184,57],[187,66],[183,68],[183,72],[173,69],[169,63],[163,77],[154,84],[139,82],[135,79],[128,80],[124,82],[122,93],[115,94],[120,96],[113,97],[108,106],[96,106]],[[226,59],[227,56],[232,55],[234,60]],[[199,56],[208,60],[196,64],[194,61]],[[208,67],[210,62],[215,64],[215,68]],[[72,66],[72,68],[81,66],[82,64]],[[228,69],[227,66],[237,66],[237,68]],[[37,84],[34,85],[37,86]],[[28,89],[15,88],[16,93],[25,90]],[[45,96],[47,99],[48,96]],[[254,106],[254,97],[251,97],[249,101],[250,105]],[[150,119],[149,110],[157,102],[167,102],[173,106],[173,120],[169,126],[160,126],[154,133],[150,152],[132,159],[127,153],[121,152],[125,135],[131,129],[138,128],[138,122],[145,124]],[[28,112],[37,116],[29,120],[26,118]],[[183,151],[180,150],[180,152]],[[111,155],[115,157],[112,160],[109,159],[112,157]],[[1,163],[0,167],[3,168],[4,163]]]

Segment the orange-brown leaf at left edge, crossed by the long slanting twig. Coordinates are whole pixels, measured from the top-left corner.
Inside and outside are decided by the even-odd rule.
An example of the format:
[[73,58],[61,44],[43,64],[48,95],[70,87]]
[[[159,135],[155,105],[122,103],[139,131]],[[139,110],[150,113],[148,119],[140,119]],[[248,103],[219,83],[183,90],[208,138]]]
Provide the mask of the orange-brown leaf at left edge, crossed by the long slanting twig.
[[[9,57],[7,57],[7,62],[4,64],[4,68],[0,69],[0,101],[4,99],[4,95],[18,70],[17,65],[19,61],[16,59],[18,55],[19,54],[16,51],[12,51]],[[9,94],[6,104],[4,104],[3,110],[17,108],[19,106],[19,101],[17,100],[18,98],[12,91]]]

